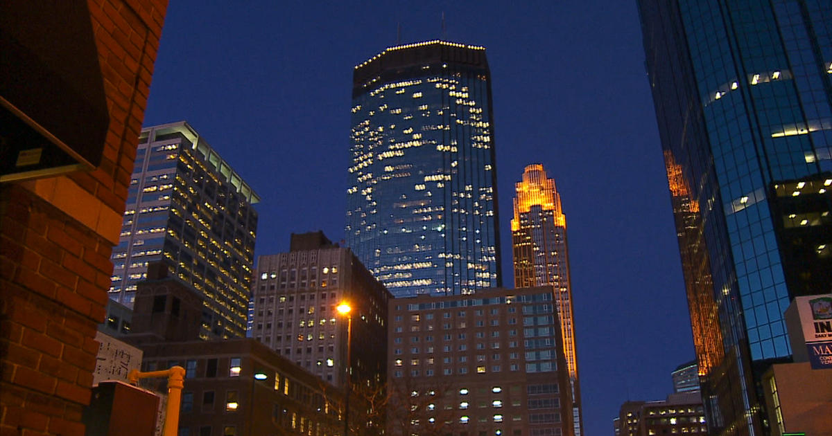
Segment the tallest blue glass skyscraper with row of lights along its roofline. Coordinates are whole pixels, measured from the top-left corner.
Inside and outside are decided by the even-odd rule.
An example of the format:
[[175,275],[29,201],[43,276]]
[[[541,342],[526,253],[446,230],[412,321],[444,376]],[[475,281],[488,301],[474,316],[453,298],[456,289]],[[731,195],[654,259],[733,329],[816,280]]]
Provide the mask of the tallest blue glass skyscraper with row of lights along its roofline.
[[394,296],[501,286],[483,47],[390,47],[355,67],[346,243]]

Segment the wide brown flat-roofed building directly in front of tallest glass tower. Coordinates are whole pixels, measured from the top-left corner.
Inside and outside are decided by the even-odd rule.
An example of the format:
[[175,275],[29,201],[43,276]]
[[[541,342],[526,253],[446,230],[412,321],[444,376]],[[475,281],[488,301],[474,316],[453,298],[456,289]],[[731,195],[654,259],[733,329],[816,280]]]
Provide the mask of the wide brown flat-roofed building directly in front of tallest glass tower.
[[551,286],[389,301],[391,435],[572,435]]

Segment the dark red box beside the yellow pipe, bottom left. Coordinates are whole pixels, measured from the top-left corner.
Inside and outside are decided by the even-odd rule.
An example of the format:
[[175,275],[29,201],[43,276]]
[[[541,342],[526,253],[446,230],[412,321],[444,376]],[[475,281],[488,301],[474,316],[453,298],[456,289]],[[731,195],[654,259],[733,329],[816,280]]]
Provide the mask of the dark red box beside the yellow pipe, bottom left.
[[159,396],[121,381],[102,381],[92,388],[84,409],[86,436],[153,436]]

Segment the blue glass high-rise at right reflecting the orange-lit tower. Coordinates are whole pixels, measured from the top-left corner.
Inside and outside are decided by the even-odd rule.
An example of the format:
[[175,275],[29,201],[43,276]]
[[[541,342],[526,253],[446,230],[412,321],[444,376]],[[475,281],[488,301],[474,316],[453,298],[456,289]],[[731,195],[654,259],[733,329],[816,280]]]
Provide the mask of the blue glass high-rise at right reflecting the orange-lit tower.
[[832,282],[832,12],[638,4],[709,430],[765,434],[783,312]]

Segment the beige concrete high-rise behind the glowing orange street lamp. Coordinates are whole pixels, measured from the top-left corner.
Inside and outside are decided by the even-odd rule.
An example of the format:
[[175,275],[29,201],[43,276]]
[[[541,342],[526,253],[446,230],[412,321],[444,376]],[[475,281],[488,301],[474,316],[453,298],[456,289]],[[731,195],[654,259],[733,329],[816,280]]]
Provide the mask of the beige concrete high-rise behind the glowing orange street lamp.
[[346,247],[322,232],[292,234],[289,252],[257,259],[251,336],[336,386],[344,384],[352,306],[350,367],[356,380],[384,382],[387,301],[392,298]]

